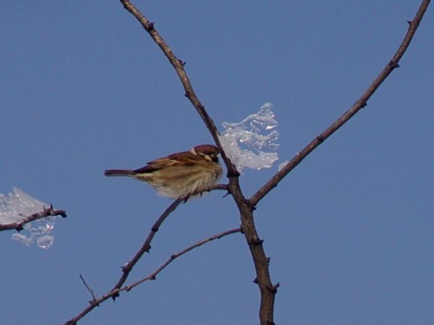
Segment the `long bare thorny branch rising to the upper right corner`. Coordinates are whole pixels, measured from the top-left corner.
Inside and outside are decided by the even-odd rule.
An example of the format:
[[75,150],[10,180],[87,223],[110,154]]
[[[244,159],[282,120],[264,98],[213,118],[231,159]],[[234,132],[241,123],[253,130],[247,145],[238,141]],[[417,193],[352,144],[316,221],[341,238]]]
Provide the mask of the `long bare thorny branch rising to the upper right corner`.
[[250,199],[249,204],[254,207],[256,204],[266,196],[276,185],[285,177],[289,172],[291,172],[295,167],[297,167],[300,162],[307,157],[314,149],[321,145],[330,135],[332,135],[337,129],[347,123],[360,109],[367,105],[368,100],[378,89],[381,83],[390,75],[390,73],[397,67],[399,67],[399,60],[404,55],[405,50],[412,41],[413,36],[419,27],[420,21],[429,5],[430,0],[422,1],[416,16],[412,21],[409,21],[408,31],[402,40],[401,45],[399,45],[398,50],[392,59],[386,64],[381,73],[377,78],[370,84],[368,89],[365,90],[363,95],[355,102],[355,104],[343,113],[339,119],[337,119],[333,124],[331,124],[327,129],[325,129],[320,135],[318,135],[314,140],[312,140],[303,150],[301,150],[290,162],[288,162],[285,167],[283,167],[276,175],[274,175],[267,183],[265,183]]

